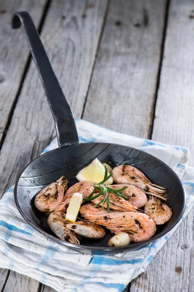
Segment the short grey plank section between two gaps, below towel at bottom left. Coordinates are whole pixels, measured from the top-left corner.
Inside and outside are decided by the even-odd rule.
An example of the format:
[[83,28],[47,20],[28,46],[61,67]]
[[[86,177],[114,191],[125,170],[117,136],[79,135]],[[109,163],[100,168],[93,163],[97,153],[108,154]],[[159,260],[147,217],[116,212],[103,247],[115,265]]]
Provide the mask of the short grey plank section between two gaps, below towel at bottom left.
[[10,271],[3,292],[36,292],[40,283],[30,277]]

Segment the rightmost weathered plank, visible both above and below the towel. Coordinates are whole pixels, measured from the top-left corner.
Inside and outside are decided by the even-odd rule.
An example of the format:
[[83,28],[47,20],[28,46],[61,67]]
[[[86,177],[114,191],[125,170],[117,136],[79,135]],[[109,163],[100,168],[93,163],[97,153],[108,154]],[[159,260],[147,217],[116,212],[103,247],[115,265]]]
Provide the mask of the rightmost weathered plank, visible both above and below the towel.
[[[194,2],[172,0],[152,139],[188,146],[194,165]],[[194,291],[194,210],[148,266],[131,292]],[[157,280],[158,279],[158,280]]]

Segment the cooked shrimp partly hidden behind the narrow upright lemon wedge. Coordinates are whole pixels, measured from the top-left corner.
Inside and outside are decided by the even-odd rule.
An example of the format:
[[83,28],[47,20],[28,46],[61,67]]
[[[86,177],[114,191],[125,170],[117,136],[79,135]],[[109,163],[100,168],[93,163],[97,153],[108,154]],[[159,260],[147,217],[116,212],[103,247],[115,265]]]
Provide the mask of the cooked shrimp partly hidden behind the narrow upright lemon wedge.
[[74,193],[80,193],[83,199],[87,198],[94,190],[93,183],[79,182],[72,185],[65,193],[65,200],[58,206],[55,211],[66,212],[71,197]]

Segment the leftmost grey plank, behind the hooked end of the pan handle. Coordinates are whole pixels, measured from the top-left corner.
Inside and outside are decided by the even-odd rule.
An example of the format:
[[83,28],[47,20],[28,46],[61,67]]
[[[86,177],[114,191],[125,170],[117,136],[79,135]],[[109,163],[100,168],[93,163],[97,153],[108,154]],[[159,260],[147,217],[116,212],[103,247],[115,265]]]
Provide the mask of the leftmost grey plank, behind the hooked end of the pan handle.
[[21,42],[23,32],[17,30],[13,33],[11,29],[11,18],[16,11],[27,10],[38,25],[46,2],[0,0],[0,140],[29,55],[27,43]]

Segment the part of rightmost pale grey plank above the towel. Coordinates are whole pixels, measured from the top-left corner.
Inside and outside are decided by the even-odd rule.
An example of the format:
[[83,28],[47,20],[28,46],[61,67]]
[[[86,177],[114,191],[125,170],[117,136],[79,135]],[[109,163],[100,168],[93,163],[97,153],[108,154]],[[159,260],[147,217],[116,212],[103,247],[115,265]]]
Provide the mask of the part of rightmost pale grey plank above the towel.
[[152,139],[188,146],[194,165],[194,2],[173,0]]

